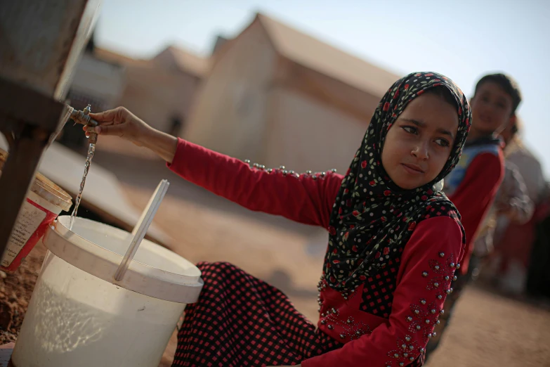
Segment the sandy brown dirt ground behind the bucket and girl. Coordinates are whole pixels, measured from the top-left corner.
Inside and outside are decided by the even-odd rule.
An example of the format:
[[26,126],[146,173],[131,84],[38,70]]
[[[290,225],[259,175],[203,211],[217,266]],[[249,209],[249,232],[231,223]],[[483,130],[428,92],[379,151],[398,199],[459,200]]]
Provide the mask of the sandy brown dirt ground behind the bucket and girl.
[[[178,179],[162,162],[144,154],[128,157],[120,147],[98,150],[93,164],[117,174],[140,210],[160,179],[171,181],[155,223],[173,238],[173,251],[192,262],[233,262],[282,289],[308,318],[317,318],[322,230],[243,210]],[[0,345],[15,340],[45,251],[39,243],[18,273],[0,278]],[[175,350],[176,333],[160,366],[171,365]],[[550,366],[550,308],[471,286],[426,366]]]

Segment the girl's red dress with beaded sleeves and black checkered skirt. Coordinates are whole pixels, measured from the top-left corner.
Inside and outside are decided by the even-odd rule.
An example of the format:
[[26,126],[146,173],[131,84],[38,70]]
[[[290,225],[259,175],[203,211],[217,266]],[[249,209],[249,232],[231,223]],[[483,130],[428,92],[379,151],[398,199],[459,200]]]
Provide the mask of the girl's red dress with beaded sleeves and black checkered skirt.
[[[250,167],[181,139],[169,168],[250,210],[324,228],[343,179]],[[204,288],[185,310],[173,366],[420,366],[461,240],[454,219],[424,219],[398,261],[350,295],[321,280],[317,328],[280,290],[231,264],[201,263]]]

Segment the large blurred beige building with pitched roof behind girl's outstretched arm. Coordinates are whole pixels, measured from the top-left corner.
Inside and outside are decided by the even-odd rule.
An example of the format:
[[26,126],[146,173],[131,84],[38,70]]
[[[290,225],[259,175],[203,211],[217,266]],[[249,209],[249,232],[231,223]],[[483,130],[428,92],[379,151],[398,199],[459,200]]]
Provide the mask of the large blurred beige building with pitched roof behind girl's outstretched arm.
[[266,167],[345,172],[397,79],[258,14],[216,45],[183,136]]

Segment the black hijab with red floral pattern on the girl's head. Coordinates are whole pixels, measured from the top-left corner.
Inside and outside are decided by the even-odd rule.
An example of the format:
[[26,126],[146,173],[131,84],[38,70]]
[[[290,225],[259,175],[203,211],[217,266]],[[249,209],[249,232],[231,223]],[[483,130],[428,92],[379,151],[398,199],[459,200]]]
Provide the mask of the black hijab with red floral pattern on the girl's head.
[[[388,130],[407,103],[431,88],[448,89],[457,103],[459,127],[445,166],[432,182],[404,190],[381,165]],[[329,222],[329,246],[325,256],[325,279],[331,288],[349,290],[384,269],[401,251],[419,221],[459,214],[447,197],[433,185],[452,171],[459,161],[471,124],[471,110],[462,91],[436,72],[415,72],[391,86],[380,101],[346,177]],[[464,243],[464,229],[463,243]]]

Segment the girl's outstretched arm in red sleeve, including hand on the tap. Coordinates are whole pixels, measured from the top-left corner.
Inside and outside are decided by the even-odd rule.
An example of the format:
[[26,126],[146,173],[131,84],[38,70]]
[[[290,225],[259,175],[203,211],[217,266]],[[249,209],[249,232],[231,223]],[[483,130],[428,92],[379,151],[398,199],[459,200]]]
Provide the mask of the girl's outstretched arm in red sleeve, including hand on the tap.
[[166,160],[173,172],[216,195],[250,210],[325,228],[329,225],[343,179],[339,174],[296,175],[280,169],[251,168],[235,158],[153,129],[123,107],[90,116],[99,123],[96,134],[119,136],[149,148]]

